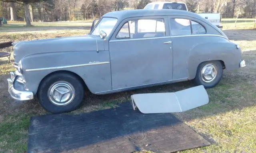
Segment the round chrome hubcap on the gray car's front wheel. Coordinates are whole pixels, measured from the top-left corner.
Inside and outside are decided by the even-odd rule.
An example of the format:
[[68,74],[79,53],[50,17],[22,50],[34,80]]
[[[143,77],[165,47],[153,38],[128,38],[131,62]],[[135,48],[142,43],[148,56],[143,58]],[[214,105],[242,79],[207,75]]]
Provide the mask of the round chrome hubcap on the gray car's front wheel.
[[66,81],[58,81],[48,89],[50,102],[58,106],[64,106],[72,102],[75,97],[75,89],[72,84]]

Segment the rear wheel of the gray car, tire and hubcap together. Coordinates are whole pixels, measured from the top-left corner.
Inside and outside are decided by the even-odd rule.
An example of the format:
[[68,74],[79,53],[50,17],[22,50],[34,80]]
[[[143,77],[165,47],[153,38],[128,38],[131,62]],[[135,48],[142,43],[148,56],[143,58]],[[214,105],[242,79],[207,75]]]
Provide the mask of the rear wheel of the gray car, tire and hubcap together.
[[213,88],[222,78],[222,63],[220,61],[206,61],[200,63],[197,68],[194,83],[196,85],[203,85],[204,88]]

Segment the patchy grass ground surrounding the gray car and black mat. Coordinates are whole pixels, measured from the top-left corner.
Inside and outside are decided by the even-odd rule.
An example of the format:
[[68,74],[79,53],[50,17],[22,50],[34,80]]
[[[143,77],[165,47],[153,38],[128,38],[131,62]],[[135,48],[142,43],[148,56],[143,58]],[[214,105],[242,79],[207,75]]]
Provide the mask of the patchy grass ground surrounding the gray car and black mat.
[[[224,71],[221,82],[215,88],[207,89],[209,104],[183,113],[175,113],[180,120],[212,143],[208,147],[180,151],[180,153],[255,153],[256,152],[256,30],[252,22],[237,22],[223,19],[224,33],[242,48],[246,67],[237,71]],[[19,24],[18,24],[19,25]],[[90,24],[88,24],[90,25]],[[0,27],[0,42],[46,39],[84,35],[90,26],[74,26],[62,23],[60,26],[47,24],[39,27]],[[74,27],[58,28],[58,27]],[[76,28],[84,27],[84,29]],[[6,28],[6,29],[4,29]],[[33,28],[32,30],[30,28]],[[51,31],[49,30],[51,29]],[[5,31],[6,30],[6,31]],[[7,32],[8,30],[8,32]],[[37,31],[37,32],[34,32]],[[25,153],[28,127],[31,116],[47,114],[38,101],[16,102],[10,98],[6,79],[14,71],[7,59],[0,61],[0,153]],[[118,102],[130,100],[135,93],[174,92],[192,87],[191,82],[180,82],[129,92],[97,96],[87,94],[84,104],[73,111],[81,114],[112,108]]]

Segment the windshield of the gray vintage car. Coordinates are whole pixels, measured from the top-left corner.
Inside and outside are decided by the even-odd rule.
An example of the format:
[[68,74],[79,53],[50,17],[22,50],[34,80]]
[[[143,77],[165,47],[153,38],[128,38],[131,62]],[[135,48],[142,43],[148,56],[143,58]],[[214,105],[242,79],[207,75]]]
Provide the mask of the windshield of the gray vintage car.
[[[116,18],[102,18],[99,24],[97,24],[95,31],[92,31],[92,35],[100,35],[100,31],[103,30],[106,32],[106,37],[110,34],[113,30],[114,26],[116,25],[117,19]],[[92,25],[94,26],[94,25]]]

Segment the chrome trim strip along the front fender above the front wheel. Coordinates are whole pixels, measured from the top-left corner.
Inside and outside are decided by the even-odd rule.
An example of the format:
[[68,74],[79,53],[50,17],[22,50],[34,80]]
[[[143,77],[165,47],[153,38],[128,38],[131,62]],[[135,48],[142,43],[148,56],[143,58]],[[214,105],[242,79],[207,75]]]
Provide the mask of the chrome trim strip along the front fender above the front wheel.
[[40,69],[27,69],[27,72],[32,71],[44,71],[44,70],[53,70],[53,69],[66,69],[72,67],[84,67],[84,66],[91,66],[91,65],[101,65],[101,64],[108,64],[110,62],[98,62],[98,63],[89,63],[89,64],[80,64],[80,65],[67,65],[62,67],[47,67],[47,68],[40,68]]

